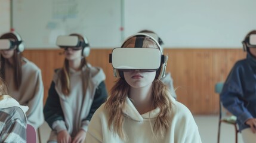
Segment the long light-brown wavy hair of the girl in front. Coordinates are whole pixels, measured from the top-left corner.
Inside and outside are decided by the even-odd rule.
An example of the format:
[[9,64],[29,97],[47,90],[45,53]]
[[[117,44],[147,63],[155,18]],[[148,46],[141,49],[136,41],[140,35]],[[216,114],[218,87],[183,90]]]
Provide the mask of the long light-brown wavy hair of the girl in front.
[[[134,37],[129,38],[124,42],[122,47],[127,47],[130,43],[135,43]],[[143,47],[147,48],[154,44],[152,39],[146,37],[143,41]],[[117,133],[119,137],[126,140],[126,134],[122,128],[124,123],[124,113],[122,107],[125,106],[125,98],[127,98],[129,92],[129,85],[124,78],[117,80],[113,88],[110,90],[110,96],[106,101],[105,108],[109,111],[108,127],[113,132]],[[156,138],[164,138],[166,130],[170,128],[169,122],[171,120],[172,101],[170,99],[170,93],[166,85],[157,78],[152,83],[152,95],[153,95],[153,107],[158,107],[160,113],[153,125],[153,133]]]

